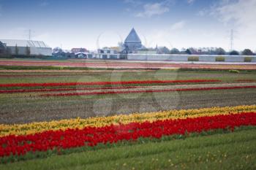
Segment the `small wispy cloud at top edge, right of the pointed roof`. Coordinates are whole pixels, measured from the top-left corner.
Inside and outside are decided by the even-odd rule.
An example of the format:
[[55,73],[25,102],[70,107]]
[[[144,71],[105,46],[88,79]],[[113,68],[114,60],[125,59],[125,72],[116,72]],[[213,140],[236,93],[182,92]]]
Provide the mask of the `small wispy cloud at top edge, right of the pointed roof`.
[[138,12],[135,16],[139,18],[151,18],[154,15],[162,15],[169,12],[170,4],[173,1],[162,1],[157,3],[148,3],[143,5],[143,12]]

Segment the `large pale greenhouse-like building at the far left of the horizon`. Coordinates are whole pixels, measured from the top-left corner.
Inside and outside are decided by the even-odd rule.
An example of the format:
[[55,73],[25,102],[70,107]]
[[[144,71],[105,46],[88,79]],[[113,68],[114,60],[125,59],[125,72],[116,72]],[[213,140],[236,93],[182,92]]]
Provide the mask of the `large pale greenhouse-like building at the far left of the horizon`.
[[18,39],[0,39],[6,44],[8,53],[12,55],[27,55],[29,49],[30,55],[52,55],[52,49],[45,42],[18,40]]

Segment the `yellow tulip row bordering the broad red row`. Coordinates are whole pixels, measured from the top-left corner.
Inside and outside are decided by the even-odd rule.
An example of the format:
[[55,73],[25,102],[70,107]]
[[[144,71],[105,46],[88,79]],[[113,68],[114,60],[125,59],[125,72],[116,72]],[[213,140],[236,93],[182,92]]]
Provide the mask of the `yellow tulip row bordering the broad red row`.
[[55,120],[50,122],[26,123],[15,125],[0,125],[0,136],[35,134],[42,131],[66,130],[67,128],[85,128],[88,126],[102,127],[118,123],[153,122],[165,119],[185,119],[187,117],[203,117],[214,115],[229,115],[240,112],[256,112],[256,105],[238,107],[212,107],[203,109],[181,109],[162,112],[135,113],[131,115],[115,115],[110,117],[90,117],[81,119]]

